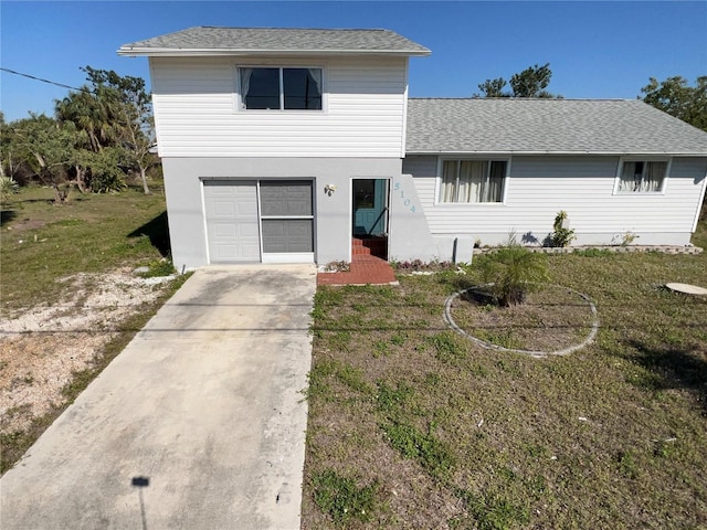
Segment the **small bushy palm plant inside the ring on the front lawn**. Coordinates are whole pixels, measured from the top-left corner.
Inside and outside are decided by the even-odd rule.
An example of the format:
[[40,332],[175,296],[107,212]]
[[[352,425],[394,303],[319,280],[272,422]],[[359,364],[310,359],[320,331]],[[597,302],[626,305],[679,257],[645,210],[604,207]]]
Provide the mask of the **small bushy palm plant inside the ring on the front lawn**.
[[523,304],[528,293],[549,280],[547,256],[530,252],[510,237],[506,246],[477,261],[490,295],[503,307]]

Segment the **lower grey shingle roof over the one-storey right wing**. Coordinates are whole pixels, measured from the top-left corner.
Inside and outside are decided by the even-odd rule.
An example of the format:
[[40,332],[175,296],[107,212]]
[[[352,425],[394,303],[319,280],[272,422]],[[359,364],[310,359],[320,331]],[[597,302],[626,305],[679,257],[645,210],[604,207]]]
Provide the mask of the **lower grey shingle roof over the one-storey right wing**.
[[639,99],[410,99],[408,153],[707,156],[707,132]]

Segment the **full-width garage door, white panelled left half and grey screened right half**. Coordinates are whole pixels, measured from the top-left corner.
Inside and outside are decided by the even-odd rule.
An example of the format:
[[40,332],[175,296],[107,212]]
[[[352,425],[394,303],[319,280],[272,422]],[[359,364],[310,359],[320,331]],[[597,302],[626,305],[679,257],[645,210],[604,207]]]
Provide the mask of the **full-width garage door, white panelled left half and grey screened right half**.
[[314,261],[312,181],[203,184],[211,263]]

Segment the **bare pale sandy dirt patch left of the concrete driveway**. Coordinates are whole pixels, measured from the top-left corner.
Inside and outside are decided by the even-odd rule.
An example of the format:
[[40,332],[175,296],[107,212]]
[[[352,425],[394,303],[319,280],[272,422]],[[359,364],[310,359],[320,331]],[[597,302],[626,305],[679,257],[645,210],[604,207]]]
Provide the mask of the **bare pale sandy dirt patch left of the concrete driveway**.
[[143,305],[154,301],[167,278],[141,278],[129,269],[61,278],[63,299],[0,322],[0,433],[24,431],[63,401],[74,372],[87,368]]

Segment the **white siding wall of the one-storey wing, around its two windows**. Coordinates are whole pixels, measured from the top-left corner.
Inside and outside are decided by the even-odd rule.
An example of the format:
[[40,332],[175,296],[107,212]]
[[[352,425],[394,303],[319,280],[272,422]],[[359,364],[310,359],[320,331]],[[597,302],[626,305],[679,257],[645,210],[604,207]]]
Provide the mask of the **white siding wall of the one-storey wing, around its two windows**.
[[[414,176],[419,200],[440,258],[449,258],[455,239],[499,244],[515,231],[527,244],[541,244],[558,211],[569,214],[574,244],[686,245],[695,230],[707,173],[706,158],[674,158],[665,191],[614,194],[619,157],[516,156],[510,160],[503,204],[436,203],[437,157],[409,157],[403,172]],[[463,261],[463,259],[461,259]]]

